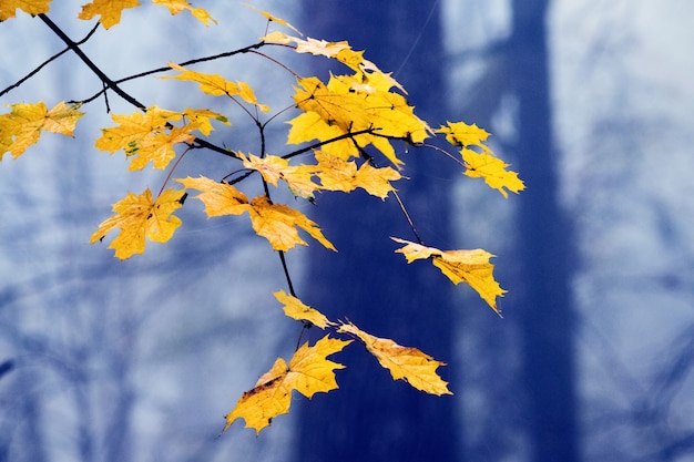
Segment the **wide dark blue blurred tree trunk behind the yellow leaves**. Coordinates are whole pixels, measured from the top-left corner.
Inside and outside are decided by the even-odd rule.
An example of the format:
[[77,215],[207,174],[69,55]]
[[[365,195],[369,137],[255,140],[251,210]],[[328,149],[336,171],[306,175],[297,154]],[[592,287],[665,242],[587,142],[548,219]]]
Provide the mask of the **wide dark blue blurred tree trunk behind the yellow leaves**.
[[[329,41],[348,40],[355,50],[366,50],[366,59],[384,72],[394,72],[405,85],[418,115],[441,122],[443,115],[436,116],[445,106],[437,2],[305,0],[303,4],[304,32]],[[325,69],[316,72],[327,76]],[[399,194],[427,244],[448,248],[452,182],[441,178],[450,163],[427,150],[405,150],[402,145],[398,155],[406,163],[404,175],[412,179],[398,183]],[[381,203],[360,192],[324,194],[313,217],[339,253],[309,249],[299,297],[333,319],[348,317],[370,333],[452,361],[452,286],[430,265],[407,265],[394,253],[397,246],[390,236],[415,239],[394,197]],[[355,352],[338,359],[348,368],[337,373],[340,389],[300,408],[296,460],[459,460],[455,398],[428,396],[394,382],[370,355],[350,349]],[[439,371],[446,380],[453,379],[451,366]]]

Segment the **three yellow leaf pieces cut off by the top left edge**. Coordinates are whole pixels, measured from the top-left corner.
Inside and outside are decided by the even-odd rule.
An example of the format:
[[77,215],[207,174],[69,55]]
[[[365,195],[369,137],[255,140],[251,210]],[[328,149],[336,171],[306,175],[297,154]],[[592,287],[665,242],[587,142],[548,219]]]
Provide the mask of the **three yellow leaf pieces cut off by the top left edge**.
[[[18,9],[28,14],[48,13],[50,2],[51,0],[0,0],[0,21],[14,18]],[[193,8],[186,0],[152,0],[152,3],[169,8],[171,14],[178,14],[181,11],[187,10],[205,25],[208,25],[211,21],[215,24],[217,22],[205,9]],[[90,20],[99,16],[101,25],[109,29],[121,22],[123,10],[139,6],[137,0],[93,0],[82,6],[82,11],[78,18]]]

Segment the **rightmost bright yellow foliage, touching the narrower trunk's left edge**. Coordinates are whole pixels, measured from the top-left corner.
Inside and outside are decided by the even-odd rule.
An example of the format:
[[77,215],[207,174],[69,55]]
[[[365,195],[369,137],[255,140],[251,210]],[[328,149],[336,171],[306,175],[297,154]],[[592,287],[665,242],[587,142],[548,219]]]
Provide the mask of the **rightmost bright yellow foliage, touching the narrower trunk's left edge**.
[[[465,122],[448,123],[436,131],[445,133],[446,140],[453,146],[461,147],[460,154],[466,165],[466,175],[472,178],[484,178],[484,183],[498,189],[503,197],[509,197],[506,189],[516,194],[525,188],[523,182],[516,172],[507,171],[509,164],[496,157],[492,151],[484,144],[489,133],[477,126],[468,125]],[[481,152],[473,151],[468,146],[477,146]],[[506,188],[506,189],[504,189]]]

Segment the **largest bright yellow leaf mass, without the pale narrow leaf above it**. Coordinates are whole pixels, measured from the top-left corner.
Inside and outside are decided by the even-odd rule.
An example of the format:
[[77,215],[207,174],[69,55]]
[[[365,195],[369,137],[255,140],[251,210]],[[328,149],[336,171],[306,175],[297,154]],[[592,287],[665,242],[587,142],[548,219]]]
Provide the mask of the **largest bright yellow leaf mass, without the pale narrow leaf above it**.
[[[374,84],[365,83],[364,74],[330,76],[325,85],[315,76],[299,79],[294,94],[298,109],[314,112],[324,124],[316,124],[315,119],[295,119],[289,140],[293,143],[313,138],[328,141],[335,137],[337,126],[340,134],[364,132],[353,137],[360,146],[371,144],[394,164],[402,164],[390,145],[389,138],[407,140],[421,143],[428,137],[430,129],[417,117],[414,107],[398,93],[389,92],[385,79],[374,78]],[[310,137],[313,136],[313,137]]]

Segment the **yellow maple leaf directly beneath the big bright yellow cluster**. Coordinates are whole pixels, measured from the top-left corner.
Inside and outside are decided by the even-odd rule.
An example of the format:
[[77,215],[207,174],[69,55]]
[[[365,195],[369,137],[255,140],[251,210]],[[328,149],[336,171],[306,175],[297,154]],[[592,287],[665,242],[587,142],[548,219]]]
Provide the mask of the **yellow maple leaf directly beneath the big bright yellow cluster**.
[[367,193],[385,199],[389,192],[395,191],[390,182],[402,177],[391,167],[376,168],[365,162],[357,170],[354,161],[347,162],[324,151],[316,151],[315,155],[318,161],[316,175],[320,178],[323,189],[349,193],[361,187]]

